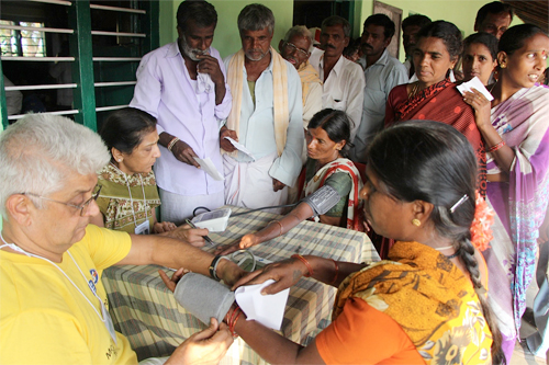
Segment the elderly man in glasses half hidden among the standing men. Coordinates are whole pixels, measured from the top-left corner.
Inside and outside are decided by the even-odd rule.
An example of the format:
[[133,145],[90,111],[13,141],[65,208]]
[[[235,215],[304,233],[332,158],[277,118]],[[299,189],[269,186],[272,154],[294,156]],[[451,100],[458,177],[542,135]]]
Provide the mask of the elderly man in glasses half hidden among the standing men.
[[[322,81],[318,72],[309,62],[313,49],[313,35],[303,25],[291,27],[278,45],[280,55],[295,67],[301,79],[303,100],[303,129],[307,129],[309,121],[322,109]],[[304,148],[306,153],[306,146]],[[302,156],[303,157],[303,156]],[[306,159],[306,155],[304,155]],[[304,162],[304,161],[303,161]]]

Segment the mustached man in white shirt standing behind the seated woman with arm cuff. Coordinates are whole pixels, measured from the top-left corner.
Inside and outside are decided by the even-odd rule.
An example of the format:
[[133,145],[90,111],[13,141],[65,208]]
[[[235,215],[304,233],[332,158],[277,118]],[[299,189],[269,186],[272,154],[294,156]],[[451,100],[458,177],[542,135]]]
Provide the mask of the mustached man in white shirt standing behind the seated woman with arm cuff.
[[322,22],[321,48],[317,57],[310,62],[324,82],[322,107],[344,111],[352,122],[350,141],[355,139],[362,116],[365,100],[365,73],[360,65],[344,57],[343,52],[349,45],[350,24],[337,15]]

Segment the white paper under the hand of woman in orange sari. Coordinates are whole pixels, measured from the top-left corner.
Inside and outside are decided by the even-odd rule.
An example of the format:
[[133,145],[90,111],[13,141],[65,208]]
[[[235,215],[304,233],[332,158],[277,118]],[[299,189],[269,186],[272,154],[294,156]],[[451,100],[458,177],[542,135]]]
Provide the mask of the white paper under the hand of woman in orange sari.
[[240,286],[235,292],[235,299],[248,320],[280,331],[290,288],[273,295],[261,295],[261,289],[272,283],[273,280],[268,280],[262,284]]

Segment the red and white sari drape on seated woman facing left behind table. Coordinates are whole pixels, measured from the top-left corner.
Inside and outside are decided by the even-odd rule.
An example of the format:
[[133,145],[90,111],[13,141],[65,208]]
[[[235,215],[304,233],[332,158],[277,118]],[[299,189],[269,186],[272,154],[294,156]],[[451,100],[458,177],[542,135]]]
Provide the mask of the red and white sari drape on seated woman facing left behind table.
[[[351,189],[348,196],[347,203],[347,225],[348,229],[354,229],[358,231],[363,231],[362,220],[360,218],[360,204],[358,199],[358,193],[362,189],[362,179],[360,179],[360,173],[357,168],[346,158],[338,158],[332,162],[323,166],[313,179],[309,180],[303,186],[305,196],[311,195],[324,185],[326,179],[336,172],[344,172],[348,174],[351,179]],[[344,197],[341,197],[344,198]]]

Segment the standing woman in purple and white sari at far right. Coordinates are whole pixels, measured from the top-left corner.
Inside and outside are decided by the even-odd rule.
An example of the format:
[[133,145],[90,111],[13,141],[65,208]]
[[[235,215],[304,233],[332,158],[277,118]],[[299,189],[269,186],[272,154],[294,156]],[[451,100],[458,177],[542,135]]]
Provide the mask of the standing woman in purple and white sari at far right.
[[489,85],[492,103],[477,90],[464,95],[486,146],[486,196],[496,217],[494,239],[483,253],[507,363],[526,309],[549,199],[549,89],[537,83],[548,52],[549,37],[539,27],[509,28],[498,44],[500,79]]

